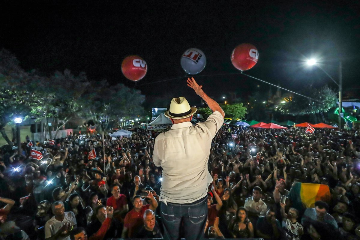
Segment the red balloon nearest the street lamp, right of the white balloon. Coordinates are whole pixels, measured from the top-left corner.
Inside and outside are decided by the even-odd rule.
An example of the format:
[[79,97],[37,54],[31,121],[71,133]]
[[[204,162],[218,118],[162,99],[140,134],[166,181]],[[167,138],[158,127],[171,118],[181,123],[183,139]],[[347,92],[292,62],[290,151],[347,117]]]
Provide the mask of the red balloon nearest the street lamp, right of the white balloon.
[[249,43],[243,43],[235,47],[231,53],[231,63],[235,68],[245,71],[255,66],[259,52],[256,47]]

